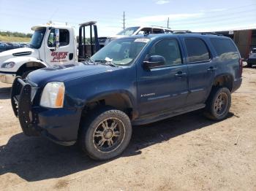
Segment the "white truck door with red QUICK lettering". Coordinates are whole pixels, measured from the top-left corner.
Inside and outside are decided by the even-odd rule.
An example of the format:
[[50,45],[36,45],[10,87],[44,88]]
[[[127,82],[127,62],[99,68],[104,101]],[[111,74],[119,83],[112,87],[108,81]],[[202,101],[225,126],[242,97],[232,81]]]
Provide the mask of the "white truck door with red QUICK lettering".
[[50,66],[74,63],[75,61],[75,47],[72,42],[72,31],[68,29],[59,29],[59,47],[54,47],[53,36],[55,29],[51,29],[45,40],[45,62]]

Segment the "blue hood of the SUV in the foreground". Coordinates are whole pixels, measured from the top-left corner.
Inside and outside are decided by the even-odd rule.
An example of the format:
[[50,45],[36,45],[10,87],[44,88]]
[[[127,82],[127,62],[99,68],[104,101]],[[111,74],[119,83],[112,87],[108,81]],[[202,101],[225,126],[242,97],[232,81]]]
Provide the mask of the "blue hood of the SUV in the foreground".
[[118,69],[121,69],[121,67],[105,66],[102,64],[73,63],[33,71],[28,75],[27,79],[37,84],[38,87],[42,87],[48,82],[65,82]]

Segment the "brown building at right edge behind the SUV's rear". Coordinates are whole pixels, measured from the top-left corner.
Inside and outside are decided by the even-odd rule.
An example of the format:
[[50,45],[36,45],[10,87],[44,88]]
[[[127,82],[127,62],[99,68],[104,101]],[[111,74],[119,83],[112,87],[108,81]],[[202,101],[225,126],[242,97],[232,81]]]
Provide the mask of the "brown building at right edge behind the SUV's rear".
[[256,47],[256,29],[217,31],[217,33],[233,39],[240,51],[241,57],[245,60],[248,58],[252,48]]

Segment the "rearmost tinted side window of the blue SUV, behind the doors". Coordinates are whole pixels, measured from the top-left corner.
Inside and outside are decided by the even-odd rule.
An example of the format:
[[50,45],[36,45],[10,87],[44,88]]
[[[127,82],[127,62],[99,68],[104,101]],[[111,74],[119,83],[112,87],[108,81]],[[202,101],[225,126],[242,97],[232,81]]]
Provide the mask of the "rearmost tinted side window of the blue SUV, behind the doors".
[[211,44],[213,44],[221,60],[227,61],[239,58],[236,46],[230,39],[211,38]]

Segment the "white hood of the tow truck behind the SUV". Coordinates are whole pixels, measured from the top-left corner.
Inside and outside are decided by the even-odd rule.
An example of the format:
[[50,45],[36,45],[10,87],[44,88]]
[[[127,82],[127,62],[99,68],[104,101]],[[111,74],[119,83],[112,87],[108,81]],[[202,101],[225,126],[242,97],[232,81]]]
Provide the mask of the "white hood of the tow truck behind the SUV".
[[0,63],[3,63],[4,61],[7,61],[10,58],[15,58],[20,56],[29,56],[29,55],[31,55],[34,58],[39,58],[38,50],[34,50],[29,47],[6,50],[4,52],[0,52]]

